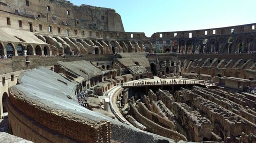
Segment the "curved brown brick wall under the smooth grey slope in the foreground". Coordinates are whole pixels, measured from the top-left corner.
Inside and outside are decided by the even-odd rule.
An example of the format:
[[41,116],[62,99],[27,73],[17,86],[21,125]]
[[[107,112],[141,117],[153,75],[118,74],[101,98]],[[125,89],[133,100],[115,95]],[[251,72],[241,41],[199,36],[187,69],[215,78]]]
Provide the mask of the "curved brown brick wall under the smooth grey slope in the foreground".
[[[61,139],[62,137],[55,134],[61,134],[70,140],[77,142],[110,142],[111,126],[109,121],[92,121],[67,111],[47,108],[39,102],[26,99],[25,95],[15,88],[10,88],[9,93],[8,112],[9,110],[12,110],[11,116],[20,116],[13,112],[13,108],[17,108],[20,111],[20,114],[31,119],[30,121],[28,119],[23,119],[23,123],[19,124],[19,122],[15,121],[18,120],[18,118],[11,118],[10,126],[13,128],[14,135],[26,139],[28,138],[35,142],[40,142],[37,141],[38,134],[40,135],[39,138],[42,139],[42,142],[45,142],[44,138],[47,138],[46,140],[48,141],[46,142],[63,142]],[[28,124],[30,122],[41,127],[34,126],[35,129],[33,129],[33,127],[30,127]],[[33,130],[26,130],[26,128],[23,128],[24,125]],[[17,130],[18,128],[19,130]],[[47,133],[50,135],[48,136],[45,132],[50,132]],[[37,134],[37,136],[29,138],[28,136],[31,136],[30,133]]]

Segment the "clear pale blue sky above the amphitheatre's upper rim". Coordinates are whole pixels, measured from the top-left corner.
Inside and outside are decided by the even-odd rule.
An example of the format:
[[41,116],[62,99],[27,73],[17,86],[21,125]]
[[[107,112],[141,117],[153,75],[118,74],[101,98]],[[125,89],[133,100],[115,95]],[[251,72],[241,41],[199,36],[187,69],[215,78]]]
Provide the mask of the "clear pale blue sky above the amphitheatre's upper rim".
[[256,23],[255,0],[70,0],[75,5],[112,8],[125,32],[200,30]]

